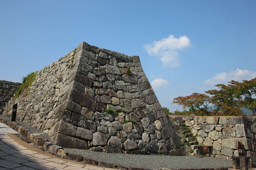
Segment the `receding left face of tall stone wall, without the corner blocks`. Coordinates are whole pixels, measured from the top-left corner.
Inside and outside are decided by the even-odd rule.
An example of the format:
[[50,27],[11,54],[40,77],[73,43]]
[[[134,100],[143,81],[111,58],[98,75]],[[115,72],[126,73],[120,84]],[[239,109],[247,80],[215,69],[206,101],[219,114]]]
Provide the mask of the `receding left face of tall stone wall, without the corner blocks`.
[[37,71],[28,95],[11,100],[4,107],[3,115],[11,117],[12,106],[18,103],[17,121],[48,132],[59,119],[54,114],[58,101],[68,91],[68,75],[72,68],[73,51],[59,60]]

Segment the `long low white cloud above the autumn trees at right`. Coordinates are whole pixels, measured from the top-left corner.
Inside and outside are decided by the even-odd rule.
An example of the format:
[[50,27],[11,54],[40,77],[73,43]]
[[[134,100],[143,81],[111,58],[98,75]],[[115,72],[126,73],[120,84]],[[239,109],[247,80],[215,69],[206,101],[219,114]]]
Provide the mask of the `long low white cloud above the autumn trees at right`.
[[215,77],[211,79],[207,79],[204,81],[204,85],[213,86],[217,84],[228,84],[228,81],[235,80],[242,82],[242,80],[251,80],[252,78],[256,77],[256,72],[250,70],[240,70],[237,69],[236,71],[230,70],[228,73],[223,72],[217,74]]

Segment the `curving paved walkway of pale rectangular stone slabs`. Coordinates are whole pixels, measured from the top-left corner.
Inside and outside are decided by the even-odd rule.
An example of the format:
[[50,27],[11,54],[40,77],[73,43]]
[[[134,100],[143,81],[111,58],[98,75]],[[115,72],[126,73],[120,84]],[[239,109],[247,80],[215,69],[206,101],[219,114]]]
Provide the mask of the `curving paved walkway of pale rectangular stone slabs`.
[[14,134],[19,133],[0,122],[0,170],[113,170],[55,157],[28,145]]

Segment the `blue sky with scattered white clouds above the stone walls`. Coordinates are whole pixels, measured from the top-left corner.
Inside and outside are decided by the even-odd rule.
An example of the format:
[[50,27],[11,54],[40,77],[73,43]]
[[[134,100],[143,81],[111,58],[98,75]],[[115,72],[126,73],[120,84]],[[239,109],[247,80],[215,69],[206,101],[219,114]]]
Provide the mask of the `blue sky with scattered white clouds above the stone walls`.
[[174,97],[256,77],[255,9],[254,0],[1,0],[0,80],[20,82],[85,41],[139,55],[173,111]]

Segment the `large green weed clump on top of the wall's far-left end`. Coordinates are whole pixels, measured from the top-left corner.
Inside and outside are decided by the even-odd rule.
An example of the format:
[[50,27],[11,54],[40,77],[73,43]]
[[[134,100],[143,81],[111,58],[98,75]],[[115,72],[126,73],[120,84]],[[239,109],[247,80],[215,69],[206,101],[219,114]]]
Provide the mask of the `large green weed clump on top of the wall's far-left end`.
[[36,80],[36,72],[28,74],[26,77],[22,77],[22,84],[17,88],[14,98],[19,98],[23,93],[28,94],[30,91],[31,84]]

